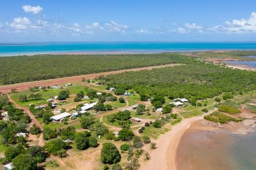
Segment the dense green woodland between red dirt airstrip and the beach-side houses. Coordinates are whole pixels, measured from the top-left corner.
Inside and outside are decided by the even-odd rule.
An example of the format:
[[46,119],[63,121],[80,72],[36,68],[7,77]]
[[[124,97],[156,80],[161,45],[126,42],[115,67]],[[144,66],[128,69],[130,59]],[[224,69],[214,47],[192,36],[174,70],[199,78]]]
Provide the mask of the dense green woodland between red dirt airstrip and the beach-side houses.
[[[256,89],[256,73],[221,66],[193,63],[102,77],[108,87],[133,89],[141,100],[154,97],[212,98],[221,93],[243,93]],[[164,102],[164,101],[163,101]]]

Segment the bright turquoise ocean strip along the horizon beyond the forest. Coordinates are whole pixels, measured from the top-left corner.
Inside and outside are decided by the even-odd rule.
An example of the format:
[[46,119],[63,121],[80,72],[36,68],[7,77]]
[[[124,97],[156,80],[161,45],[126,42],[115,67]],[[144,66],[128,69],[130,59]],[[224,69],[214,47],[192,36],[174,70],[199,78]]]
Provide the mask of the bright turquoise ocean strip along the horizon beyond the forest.
[[205,50],[256,50],[256,42],[28,42],[0,43],[0,56],[34,54],[148,54]]

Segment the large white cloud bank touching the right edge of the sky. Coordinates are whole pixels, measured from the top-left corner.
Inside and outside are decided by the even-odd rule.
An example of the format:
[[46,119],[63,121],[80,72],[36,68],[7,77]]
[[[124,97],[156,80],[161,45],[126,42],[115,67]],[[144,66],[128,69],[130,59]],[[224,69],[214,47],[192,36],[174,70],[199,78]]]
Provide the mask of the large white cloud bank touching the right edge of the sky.
[[256,33],[256,12],[252,12],[249,19],[226,21],[225,24],[211,27],[209,30],[217,33]]

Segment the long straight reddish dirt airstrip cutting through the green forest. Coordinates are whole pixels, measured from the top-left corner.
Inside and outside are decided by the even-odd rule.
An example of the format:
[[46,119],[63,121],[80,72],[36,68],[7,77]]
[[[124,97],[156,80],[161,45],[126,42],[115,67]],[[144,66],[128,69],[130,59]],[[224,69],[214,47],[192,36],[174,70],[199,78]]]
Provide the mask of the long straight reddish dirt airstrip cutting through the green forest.
[[63,77],[58,79],[48,79],[43,81],[33,81],[33,82],[23,82],[19,84],[10,84],[10,85],[4,85],[0,86],[0,92],[7,93],[11,91],[12,88],[17,89],[18,91],[22,91],[24,89],[28,89],[29,87],[34,86],[53,86],[55,84],[65,84],[65,83],[74,83],[74,82],[81,82],[82,78],[85,79],[94,79],[95,77],[99,77],[100,75],[111,75],[116,73],[122,73],[122,72],[134,72],[134,71],[140,71],[140,70],[152,70],[153,68],[163,68],[168,66],[177,66],[180,64],[170,64],[170,65],[159,65],[159,66],[147,66],[147,67],[141,67],[141,68],[131,68],[127,70],[117,70],[112,72],[102,72],[102,73],[91,73],[86,75],[76,75],[72,77]]

